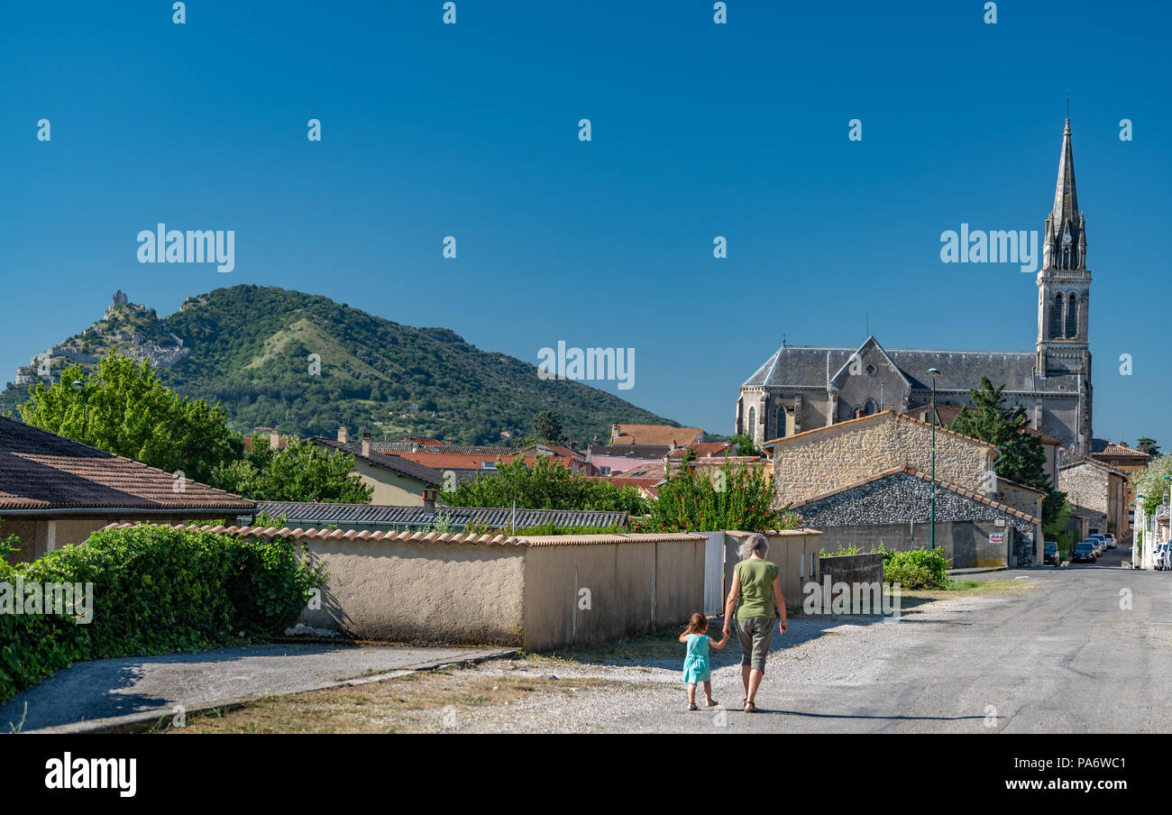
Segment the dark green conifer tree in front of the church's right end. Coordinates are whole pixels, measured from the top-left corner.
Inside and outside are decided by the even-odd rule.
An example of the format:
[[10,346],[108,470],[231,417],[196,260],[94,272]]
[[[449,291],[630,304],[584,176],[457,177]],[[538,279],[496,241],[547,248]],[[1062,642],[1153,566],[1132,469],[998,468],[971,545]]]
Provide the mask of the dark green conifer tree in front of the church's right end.
[[968,392],[974,407],[965,408],[950,429],[995,446],[1001,453],[994,468],[997,475],[1044,491],[1042,522],[1049,523],[1056,518],[1065,494],[1051,489],[1042,440],[1028,433],[1026,408],[1002,406],[1004,389],[1003,383],[993,387],[988,376],[981,376],[981,388]]

